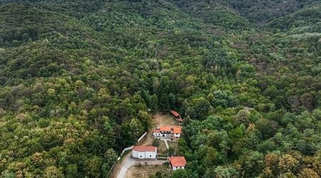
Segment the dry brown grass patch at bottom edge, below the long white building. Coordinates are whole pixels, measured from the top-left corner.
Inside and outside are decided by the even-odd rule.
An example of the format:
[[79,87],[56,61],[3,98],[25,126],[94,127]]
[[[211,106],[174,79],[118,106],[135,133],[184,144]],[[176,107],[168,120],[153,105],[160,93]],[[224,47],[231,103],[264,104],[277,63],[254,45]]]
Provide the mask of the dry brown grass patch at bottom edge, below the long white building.
[[155,175],[156,172],[161,172],[162,177],[170,177],[170,173],[165,166],[133,166],[128,169],[126,172],[126,178],[132,177],[150,177],[151,175]]

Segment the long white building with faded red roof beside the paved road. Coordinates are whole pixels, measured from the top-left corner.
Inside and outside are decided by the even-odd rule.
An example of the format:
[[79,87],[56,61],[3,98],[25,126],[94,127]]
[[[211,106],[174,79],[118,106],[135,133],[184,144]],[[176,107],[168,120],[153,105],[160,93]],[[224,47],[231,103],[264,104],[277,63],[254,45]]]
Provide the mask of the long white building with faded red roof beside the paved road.
[[157,147],[134,146],[131,155],[138,159],[156,159]]

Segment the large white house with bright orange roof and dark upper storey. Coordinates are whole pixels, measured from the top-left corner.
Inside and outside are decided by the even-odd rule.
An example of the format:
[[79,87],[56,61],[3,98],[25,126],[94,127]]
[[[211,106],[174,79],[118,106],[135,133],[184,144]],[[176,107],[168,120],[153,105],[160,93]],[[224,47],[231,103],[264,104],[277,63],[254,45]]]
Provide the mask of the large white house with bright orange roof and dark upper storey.
[[177,142],[182,134],[182,127],[180,126],[162,126],[153,131],[153,136],[163,140],[170,140]]

